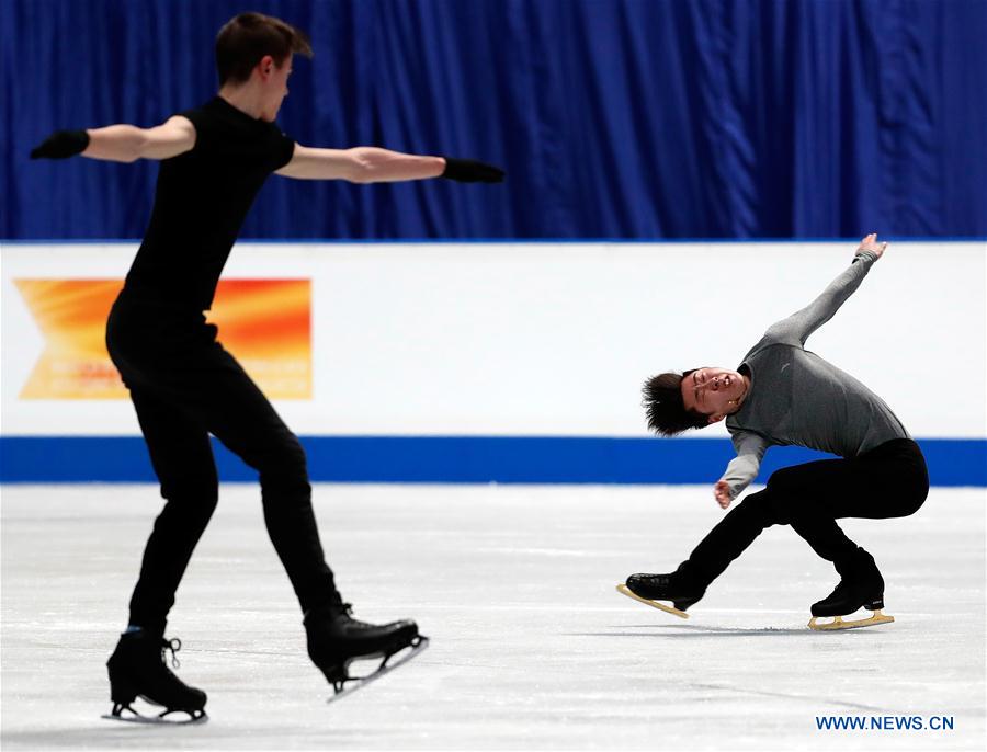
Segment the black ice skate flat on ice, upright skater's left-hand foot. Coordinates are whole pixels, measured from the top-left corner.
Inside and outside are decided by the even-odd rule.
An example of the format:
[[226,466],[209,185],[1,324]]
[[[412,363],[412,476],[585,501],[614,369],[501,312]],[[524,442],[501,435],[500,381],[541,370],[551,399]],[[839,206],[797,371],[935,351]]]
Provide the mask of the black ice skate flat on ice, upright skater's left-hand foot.
[[[166,663],[164,651],[170,650],[171,665],[179,666],[174,654],[181,647],[180,640],[166,640],[161,635],[144,630],[121,635],[116,650],[106,662],[113,710],[103,718],[138,723],[194,723],[207,720],[205,692],[186,685]],[[132,706],[138,696],[164,709],[157,716],[141,715]],[[188,718],[169,718],[173,713],[186,714]]]

